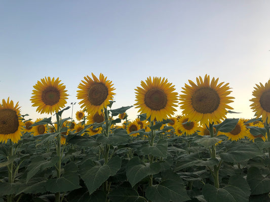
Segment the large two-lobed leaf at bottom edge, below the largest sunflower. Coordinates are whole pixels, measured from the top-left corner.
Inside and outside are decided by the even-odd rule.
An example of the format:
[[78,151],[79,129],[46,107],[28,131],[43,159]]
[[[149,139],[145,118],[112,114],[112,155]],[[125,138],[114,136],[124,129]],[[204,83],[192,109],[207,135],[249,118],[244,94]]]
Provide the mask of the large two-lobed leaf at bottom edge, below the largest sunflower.
[[202,192],[208,202],[248,202],[250,188],[243,177],[235,175],[230,177],[227,186],[216,188],[205,184]]

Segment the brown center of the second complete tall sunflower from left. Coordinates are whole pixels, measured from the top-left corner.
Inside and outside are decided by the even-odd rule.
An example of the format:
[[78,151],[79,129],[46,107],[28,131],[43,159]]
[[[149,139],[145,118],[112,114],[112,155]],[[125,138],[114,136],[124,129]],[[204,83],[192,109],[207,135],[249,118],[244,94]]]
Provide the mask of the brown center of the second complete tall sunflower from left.
[[92,105],[101,105],[108,96],[108,88],[103,83],[94,83],[88,90],[88,100]]

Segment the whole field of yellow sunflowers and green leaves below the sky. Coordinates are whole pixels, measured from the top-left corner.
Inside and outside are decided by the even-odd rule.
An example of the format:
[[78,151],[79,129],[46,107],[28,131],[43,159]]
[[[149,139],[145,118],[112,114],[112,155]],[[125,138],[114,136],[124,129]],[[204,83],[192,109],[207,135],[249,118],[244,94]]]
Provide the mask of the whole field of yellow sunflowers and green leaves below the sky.
[[188,82],[178,94],[148,77],[134,106],[114,109],[112,81],[92,73],[78,85],[76,120],[62,117],[70,107],[59,78],[33,85],[32,107],[49,118],[33,121],[2,99],[0,202],[270,201],[270,80],[254,87],[252,119],[226,118],[228,83]]

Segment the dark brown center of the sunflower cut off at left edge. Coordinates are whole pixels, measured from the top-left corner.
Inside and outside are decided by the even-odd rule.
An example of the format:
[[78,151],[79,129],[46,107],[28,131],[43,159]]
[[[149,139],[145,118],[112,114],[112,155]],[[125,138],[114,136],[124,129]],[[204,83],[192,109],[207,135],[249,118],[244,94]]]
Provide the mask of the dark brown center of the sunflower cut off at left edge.
[[0,134],[12,134],[18,130],[19,118],[11,109],[0,110]]

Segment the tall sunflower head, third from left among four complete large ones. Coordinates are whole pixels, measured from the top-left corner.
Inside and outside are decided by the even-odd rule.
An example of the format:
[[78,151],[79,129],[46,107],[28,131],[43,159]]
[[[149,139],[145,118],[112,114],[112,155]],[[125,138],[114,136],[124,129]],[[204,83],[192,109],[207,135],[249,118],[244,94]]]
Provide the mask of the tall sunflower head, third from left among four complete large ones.
[[141,81],[141,87],[135,89],[136,105],[139,108],[138,112],[146,113],[147,119],[150,117],[151,121],[162,121],[174,114],[177,107],[177,92],[172,83],[161,77],[148,77],[145,82]]

